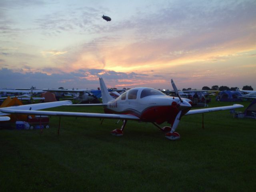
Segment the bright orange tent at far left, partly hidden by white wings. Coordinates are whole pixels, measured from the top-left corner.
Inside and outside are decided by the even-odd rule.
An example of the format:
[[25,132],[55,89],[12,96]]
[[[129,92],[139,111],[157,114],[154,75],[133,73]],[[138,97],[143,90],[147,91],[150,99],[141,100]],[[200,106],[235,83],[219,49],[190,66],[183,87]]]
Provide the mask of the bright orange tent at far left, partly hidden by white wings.
[[[18,98],[14,97],[13,99],[8,96],[6,100],[1,104],[0,108],[2,107],[11,107],[11,106],[20,106],[23,105]],[[10,122],[16,122],[16,121],[26,121],[28,116],[27,115],[19,115],[19,114],[10,114],[8,117],[11,118]]]

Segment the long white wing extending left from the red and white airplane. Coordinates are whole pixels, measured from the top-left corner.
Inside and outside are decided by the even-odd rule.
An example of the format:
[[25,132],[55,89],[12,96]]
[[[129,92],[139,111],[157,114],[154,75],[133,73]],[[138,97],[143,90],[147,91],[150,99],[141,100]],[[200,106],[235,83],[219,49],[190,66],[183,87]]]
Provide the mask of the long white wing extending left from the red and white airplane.
[[28,115],[48,115],[48,116],[74,116],[90,118],[110,118],[110,119],[129,119],[140,120],[140,118],[129,114],[104,114],[104,113],[82,113],[82,112],[61,112],[61,111],[37,111],[37,110],[18,110],[0,108],[0,112],[6,114],[28,114]]

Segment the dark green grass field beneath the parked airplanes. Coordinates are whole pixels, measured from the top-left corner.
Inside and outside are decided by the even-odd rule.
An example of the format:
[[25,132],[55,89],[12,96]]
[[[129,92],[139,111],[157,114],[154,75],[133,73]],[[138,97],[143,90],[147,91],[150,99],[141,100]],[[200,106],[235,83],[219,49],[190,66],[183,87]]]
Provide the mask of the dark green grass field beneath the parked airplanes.
[[[209,107],[230,104],[212,101]],[[212,112],[204,114],[202,129],[202,114],[184,116],[177,141],[150,123],[128,121],[124,136],[114,137],[110,131],[121,122],[72,117],[61,118],[58,136],[58,119],[51,117],[42,133],[0,130],[1,192],[256,191],[255,119]]]

